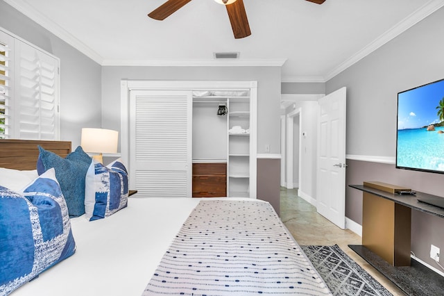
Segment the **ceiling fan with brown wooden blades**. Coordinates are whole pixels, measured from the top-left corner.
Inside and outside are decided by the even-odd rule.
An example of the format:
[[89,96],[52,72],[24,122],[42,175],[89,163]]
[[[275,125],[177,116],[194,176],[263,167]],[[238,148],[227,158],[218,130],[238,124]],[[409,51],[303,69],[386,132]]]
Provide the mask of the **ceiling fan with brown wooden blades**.
[[[166,19],[177,10],[185,6],[191,0],[167,0],[161,6],[157,7],[148,17],[162,21]],[[244,38],[251,35],[250,26],[248,25],[247,14],[244,7],[244,0],[215,0],[218,3],[224,4],[227,8],[228,17],[230,18],[231,27],[234,33],[234,38]],[[322,4],[325,0],[307,0],[309,2]]]

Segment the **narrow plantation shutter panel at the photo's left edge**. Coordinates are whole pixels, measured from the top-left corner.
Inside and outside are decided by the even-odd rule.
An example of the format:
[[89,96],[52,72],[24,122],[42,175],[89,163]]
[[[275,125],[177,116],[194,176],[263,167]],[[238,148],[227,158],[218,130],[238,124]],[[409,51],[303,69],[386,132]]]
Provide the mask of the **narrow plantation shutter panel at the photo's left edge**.
[[10,135],[14,38],[0,31],[0,139]]

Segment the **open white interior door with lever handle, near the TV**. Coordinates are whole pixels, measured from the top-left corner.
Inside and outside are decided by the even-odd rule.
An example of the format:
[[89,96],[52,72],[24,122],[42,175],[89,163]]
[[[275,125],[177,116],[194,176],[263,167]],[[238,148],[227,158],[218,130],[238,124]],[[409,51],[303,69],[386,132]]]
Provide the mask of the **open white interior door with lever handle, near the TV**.
[[344,229],[346,88],[318,102],[316,207],[318,213]]

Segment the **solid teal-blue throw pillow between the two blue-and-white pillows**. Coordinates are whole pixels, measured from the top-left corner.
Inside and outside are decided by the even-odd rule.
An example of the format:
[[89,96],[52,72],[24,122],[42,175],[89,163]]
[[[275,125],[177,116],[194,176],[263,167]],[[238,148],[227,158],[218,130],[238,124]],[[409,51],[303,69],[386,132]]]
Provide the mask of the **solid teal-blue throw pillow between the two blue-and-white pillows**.
[[37,173],[42,174],[53,167],[68,205],[69,217],[78,217],[85,213],[85,176],[90,158],[80,147],[67,158],[47,151],[39,146]]

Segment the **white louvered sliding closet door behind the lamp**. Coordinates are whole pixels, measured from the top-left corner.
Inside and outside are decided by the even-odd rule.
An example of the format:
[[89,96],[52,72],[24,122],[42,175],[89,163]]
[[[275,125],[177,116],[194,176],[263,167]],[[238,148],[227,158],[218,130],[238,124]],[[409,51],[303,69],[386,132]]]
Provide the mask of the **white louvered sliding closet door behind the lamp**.
[[190,91],[130,92],[130,177],[139,197],[191,197]]

